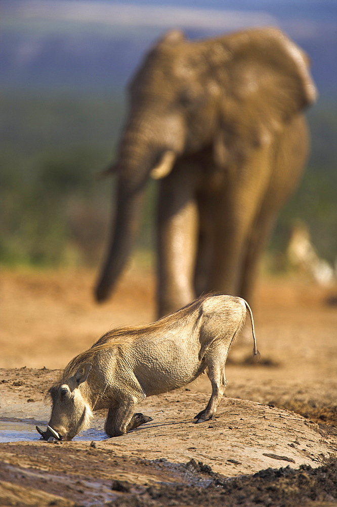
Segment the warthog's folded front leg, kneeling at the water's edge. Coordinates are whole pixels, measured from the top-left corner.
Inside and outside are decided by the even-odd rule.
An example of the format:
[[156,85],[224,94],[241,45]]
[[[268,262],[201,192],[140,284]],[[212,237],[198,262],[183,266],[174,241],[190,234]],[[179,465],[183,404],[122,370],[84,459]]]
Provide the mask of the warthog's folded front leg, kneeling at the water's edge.
[[141,424],[152,421],[151,417],[141,413],[135,414],[137,403],[138,400],[133,397],[121,402],[117,408],[109,409],[104,427],[109,437],[119,437]]

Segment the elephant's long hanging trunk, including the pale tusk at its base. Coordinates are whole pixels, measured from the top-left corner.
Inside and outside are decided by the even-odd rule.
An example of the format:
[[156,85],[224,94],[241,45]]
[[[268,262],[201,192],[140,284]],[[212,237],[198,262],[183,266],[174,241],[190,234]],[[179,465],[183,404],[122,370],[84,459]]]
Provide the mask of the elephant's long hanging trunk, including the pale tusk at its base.
[[138,115],[127,125],[113,168],[118,173],[116,213],[110,248],[95,289],[97,301],[108,298],[127,263],[138,231],[148,177],[162,178],[171,171],[183,139],[182,126],[177,121],[166,119],[163,127],[155,128],[153,116]]

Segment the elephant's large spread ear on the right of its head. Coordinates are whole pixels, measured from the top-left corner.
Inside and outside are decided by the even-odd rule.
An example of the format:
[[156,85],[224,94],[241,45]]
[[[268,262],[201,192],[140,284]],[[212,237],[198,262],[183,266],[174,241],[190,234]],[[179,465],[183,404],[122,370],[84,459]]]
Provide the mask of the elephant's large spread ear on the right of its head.
[[209,53],[224,88],[215,139],[219,165],[269,144],[284,124],[316,99],[305,53],[274,28],[218,39]]

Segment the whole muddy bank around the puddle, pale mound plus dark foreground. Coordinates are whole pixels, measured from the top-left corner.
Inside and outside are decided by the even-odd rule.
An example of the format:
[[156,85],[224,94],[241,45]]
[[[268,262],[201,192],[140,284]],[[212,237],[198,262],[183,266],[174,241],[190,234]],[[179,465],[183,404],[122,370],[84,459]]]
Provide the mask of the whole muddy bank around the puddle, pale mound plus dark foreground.
[[[47,424],[58,371],[0,370],[0,425]],[[20,379],[20,380],[19,380]],[[0,444],[0,505],[299,505],[337,501],[337,431],[271,405],[225,397],[194,424],[209,394],[190,385],[147,399],[153,421],[113,439],[105,412],[87,441]],[[327,430],[326,428],[329,428]],[[99,434],[99,433],[98,433]]]

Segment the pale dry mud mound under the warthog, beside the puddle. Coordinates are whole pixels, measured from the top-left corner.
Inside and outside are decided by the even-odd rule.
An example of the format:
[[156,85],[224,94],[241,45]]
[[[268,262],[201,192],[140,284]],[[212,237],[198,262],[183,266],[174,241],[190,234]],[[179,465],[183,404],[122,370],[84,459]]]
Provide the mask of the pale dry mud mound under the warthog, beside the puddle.
[[[0,370],[0,424],[16,419],[47,425],[50,406],[45,394],[57,375],[57,370],[47,369]],[[297,467],[318,466],[333,455],[337,443],[333,426],[319,425],[268,402],[224,396],[215,419],[194,424],[195,414],[209,399],[209,392],[200,392],[202,383],[206,383],[203,378],[199,384],[150,396],[137,410],[152,417],[151,422],[100,445],[143,459],[163,456],[183,463],[193,458],[226,476],[273,467],[280,460],[275,456]],[[105,417],[106,411],[97,412],[92,427],[103,431]]]

